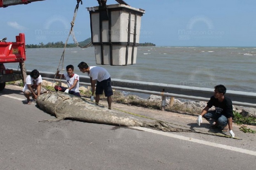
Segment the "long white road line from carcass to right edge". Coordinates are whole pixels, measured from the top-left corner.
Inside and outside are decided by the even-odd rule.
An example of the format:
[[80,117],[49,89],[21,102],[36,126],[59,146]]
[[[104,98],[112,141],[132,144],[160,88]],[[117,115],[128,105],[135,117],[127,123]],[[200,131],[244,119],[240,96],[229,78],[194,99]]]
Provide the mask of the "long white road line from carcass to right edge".
[[156,131],[156,130],[153,130],[153,129],[147,129],[147,128],[143,128],[143,127],[130,127],[130,128],[138,129],[138,130],[142,130],[142,131],[147,131],[147,132],[151,132],[151,133],[155,133],[155,134],[159,134],[159,135],[163,135],[163,136],[168,136],[168,137],[171,137],[171,138],[186,140],[186,141],[195,142],[195,143],[199,143],[199,144],[203,144],[203,145],[218,147],[218,148],[222,148],[222,149],[227,149],[227,150],[231,150],[231,151],[235,151],[235,152],[240,152],[240,153],[256,156],[255,151],[250,151],[250,150],[247,150],[247,149],[232,147],[232,146],[228,146],[228,145],[222,145],[222,144],[218,144],[218,143],[213,143],[213,142],[194,139],[194,138],[190,138],[190,137],[175,135],[175,134],[166,133],[166,132],[163,132],[163,131]]

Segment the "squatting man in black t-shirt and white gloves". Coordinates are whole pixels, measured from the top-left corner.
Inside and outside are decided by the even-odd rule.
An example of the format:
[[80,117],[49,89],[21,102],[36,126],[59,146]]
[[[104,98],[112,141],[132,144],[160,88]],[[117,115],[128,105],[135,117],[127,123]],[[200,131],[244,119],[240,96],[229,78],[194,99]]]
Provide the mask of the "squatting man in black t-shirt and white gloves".
[[[206,120],[213,119],[216,123],[213,127],[221,127],[222,131],[228,131],[232,136],[235,137],[235,133],[232,131],[232,118],[233,118],[233,108],[232,101],[225,97],[226,87],[224,85],[216,85],[213,96],[207,103],[207,106],[203,109],[201,114],[198,116],[197,124],[200,126],[202,123],[202,117]],[[215,106],[214,112],[208,112],[209,108]]]

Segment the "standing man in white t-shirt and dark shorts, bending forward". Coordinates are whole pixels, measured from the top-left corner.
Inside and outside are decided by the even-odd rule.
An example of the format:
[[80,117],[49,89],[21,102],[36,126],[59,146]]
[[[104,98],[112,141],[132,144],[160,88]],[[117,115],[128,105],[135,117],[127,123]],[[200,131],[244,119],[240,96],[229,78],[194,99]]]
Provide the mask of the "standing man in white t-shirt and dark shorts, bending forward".
[[[105,96],[107,97],[107,102],[109,105],[109,109],[111,110],[111,103],[113,95],[113,90],[111,87],[111,78],[109,72],[104,69],[103,67],[98,66],[88,66],[85,62],[81,62],[78,64],[78,68],[83,73],[88,73],[88,76],[90,77],[90,82],[92,86],[92,95],[91,95],[91,101],[93,101],[93,95],[94,92],[96,94],[95,97],[95,104],[98,105],[100,101],[100,94],[103,94],[103,91],[105,93]],[[95,91],[95,84],[96,85],[96,91]]]

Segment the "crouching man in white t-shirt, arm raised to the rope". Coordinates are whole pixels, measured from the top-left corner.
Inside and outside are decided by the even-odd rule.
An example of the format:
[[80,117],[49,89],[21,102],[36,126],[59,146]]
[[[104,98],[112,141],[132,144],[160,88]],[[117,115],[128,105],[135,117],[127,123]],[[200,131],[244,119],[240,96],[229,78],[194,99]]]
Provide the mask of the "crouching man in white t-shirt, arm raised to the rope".
[[59,74],[59,70],[56,73],[56,76],[62,77],[66,79],[66,83],[68,85],[68,88],[55,85],[55,90],[60,92],[65,92],[69,94],[73,94],[75,96],[81,97],[79,93],[79,76],[77,74],[74,74],[74,67],[73,65],[68,65],[66,67],[66,73]]

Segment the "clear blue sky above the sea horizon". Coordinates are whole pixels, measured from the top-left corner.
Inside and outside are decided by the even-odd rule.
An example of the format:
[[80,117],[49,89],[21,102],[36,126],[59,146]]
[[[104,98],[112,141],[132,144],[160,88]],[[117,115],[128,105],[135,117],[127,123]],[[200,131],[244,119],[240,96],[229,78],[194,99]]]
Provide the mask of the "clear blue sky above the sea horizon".
[[[125,0],[145,10],[141,18],[140,43],[156,46],[256,46],[256,0]],[[107,5],[116,4],[107,0]],[[74,33],[77,41],[91,37],[90,14],[79,5]],[[15,41],[25,33],[26,44],[63,41],[70,30],[76,0],[43,0],[28,5],[0,8],[0,39]],[[42,33],[43,32],[43,33]],[[73,39],[69,38],[69,43]]]

